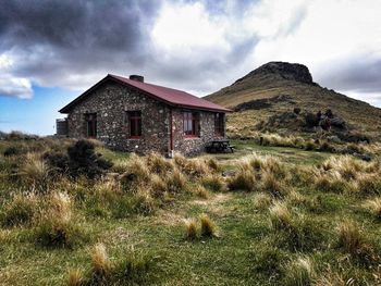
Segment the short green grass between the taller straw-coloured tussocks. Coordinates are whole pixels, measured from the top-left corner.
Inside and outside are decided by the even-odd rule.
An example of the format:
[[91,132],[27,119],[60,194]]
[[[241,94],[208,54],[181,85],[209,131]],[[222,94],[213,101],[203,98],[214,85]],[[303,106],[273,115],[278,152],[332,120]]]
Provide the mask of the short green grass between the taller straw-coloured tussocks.
[[[236,170],[235,160],[253,151],[274,156],[285,164],[285,172],[297,166],[318,167],[330,157],[323,152],[261,147],[251,141],[234,145],[236,153],[216,156],[222,170]],[[131,160],[124,153],[107,149],[100,152],[112,161]],[[5,175],[0,181],[2,220],[3,210],[8,210],[3,206],[12,201],[11,194],[25,191],[27,186],[9,176],[8,165],[0,172]],[[257,172],[256,179],[261,182],[260,170],[250,172]],[[258,190],[222,190],[206,184],[210,190],[208,197],[199,198],[193,191],[198,178],[186,174],[184,188],[163,191],[159,198],[149,197],[149,185],[120,189],[118,184],[84,178],[53,182],[54,190],[66,191],[73,198],[70,222],[75,224],[75,229],[84,232],[86,239],[70,248],[36,243],[38,211],[36,222],[1,224],[0,285],[66,285],[71,269],[81,270],[85,285],[91,285],[91,249],[98,243],[105,245],[111,263],[110,276],[106,275],[110,285],[293,285],[323,278],[332,282],[352,278],[354,285],[380,283],[377,275],[381,262],[377,254],[381,250],[381,222],[364,209],[369,198],[361,194],[319,191],[314,184],[302,179],[293,185],[294,181],[286,177],[294,174],[285,177],[280,174],[274,175],[286,188],[285,197],[268,194],[268,206],[263,208],[257,206]],[[291,199],[290,189],[303,199]],[[39,196],[36,200],[44,201],[49,195]],[[291,213],[292,228],[272,227],[269,208],[280,199]],[[152,211],[146,212],[146,207]],[[39,208],[47,207],[39,202]],[[198,235],[197,239],[188,239],[185,220],[198,220],[201,214],[216,224],[218,236]],[[343,217],[360,226],[374,260],[365,264],[344,251],[337,231]],[[305,261],[314,266],[308,273]],[[294,270],[298,271],[295,275]],[[96,285],[94,279],[93,285]]]

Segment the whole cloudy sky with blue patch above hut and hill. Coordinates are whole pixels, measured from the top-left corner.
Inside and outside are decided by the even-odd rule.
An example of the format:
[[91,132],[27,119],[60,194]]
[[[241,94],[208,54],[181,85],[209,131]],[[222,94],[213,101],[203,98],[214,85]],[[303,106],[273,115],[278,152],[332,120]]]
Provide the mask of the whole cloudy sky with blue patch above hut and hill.
[[0,130],[54,134],[108,73],[206,96],[270,61],[381,107],[380,0],[1,0]]

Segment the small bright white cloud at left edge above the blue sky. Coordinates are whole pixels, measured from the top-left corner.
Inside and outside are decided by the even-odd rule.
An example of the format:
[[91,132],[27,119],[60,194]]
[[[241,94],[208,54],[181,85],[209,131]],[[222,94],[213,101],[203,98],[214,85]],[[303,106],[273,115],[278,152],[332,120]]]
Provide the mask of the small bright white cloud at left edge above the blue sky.
[[0,54],[0,96],[32,98],[33,89],[30,80],[25,77],[12,75],[13,61],[5,54]]

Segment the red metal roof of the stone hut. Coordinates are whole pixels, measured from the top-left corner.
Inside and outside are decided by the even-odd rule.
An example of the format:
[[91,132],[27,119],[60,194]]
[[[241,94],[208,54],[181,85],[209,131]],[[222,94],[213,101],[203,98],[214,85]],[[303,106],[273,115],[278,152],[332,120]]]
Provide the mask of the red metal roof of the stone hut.
[[144,94],[147,94],[148,96],[153,97],[155,99],[159,101],[163,101],[168,103],[169,105],[174,107],[181,107],[181,108],[188,108],[188,109],[200,109],[200,110],[208,110],[208,111],[217,111],[217,112],[230,112],[231,110],[223,108],[221,105],[218,105],[216,103],[212,103],[210,101],[207,101],[205,99],[195,97],[190,94],[187,94],[182,90],[168,88],[163,86],[157,86],[151,85],[147,83],[142,83],[137,80],[132,80],[122,76],[118,75],[111,75],[109,74],[106,76],[102,80],[97,83],[95,86],[86,90],[84,94],[82,94],[79,97],[74,99],[72,102],[70,102],[67,105],[65,105],[63,109],[60,110],[61,113],[69,113],[72,107],[74,107],[77,102],[83,100],[87,95],[90,94],[91,90],[97,88],[99,85],[105,83],[106,80],[114,80],[122,85],[136,88]]

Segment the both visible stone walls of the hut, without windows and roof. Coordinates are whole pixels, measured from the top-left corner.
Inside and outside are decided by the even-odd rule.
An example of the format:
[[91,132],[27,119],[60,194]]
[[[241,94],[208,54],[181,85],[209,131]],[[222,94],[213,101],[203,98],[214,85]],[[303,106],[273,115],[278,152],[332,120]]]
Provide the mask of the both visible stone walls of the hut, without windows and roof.
[[[128,138],[127,111],[142,111],[142,137]],[[184,109],[172,108],[174,151],[194,156],[214,138],[214,113],[198,111],[200,136],[188,138],[183,130]],[[105,83],[73,107],[67,115],[69,136],[86,137],[85,114],[97,113],[97,139],[109,148],[148,153],[170,153],[170,107],[120,84]]]

